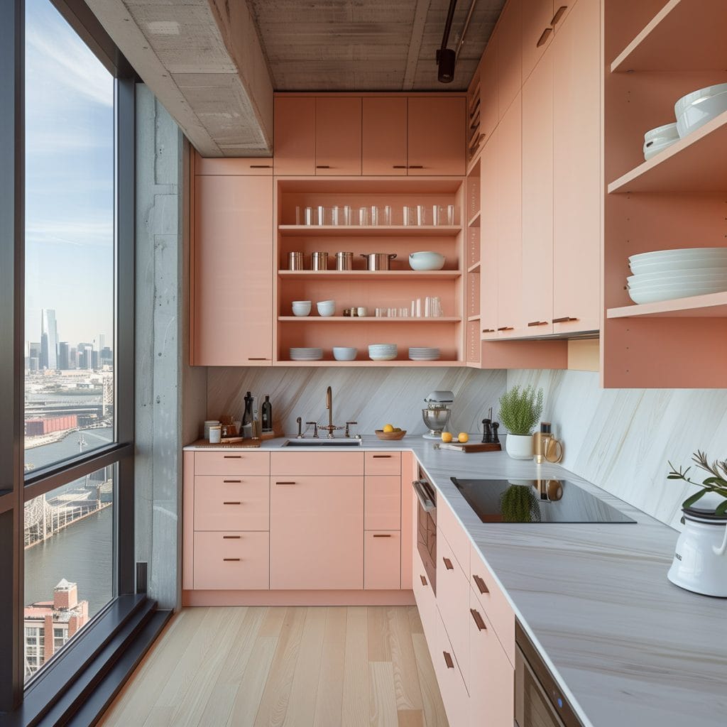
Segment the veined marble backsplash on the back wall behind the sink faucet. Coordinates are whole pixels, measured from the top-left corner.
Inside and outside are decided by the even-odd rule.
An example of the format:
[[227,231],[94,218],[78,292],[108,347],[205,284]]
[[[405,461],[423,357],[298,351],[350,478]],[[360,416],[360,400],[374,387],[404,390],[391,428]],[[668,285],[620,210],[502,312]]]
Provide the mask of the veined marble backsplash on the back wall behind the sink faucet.
[[[390,423],[409,434],[423,434],[425,396],[448,389],[454,392],[450,430],[481,432],[481,420],[505,390],[505,371],[451,368],[224,368],[207,372],[207,416],[240,417],[246,391],[259,405],[270,395],[276,431],[297,433],[296,417],[327,423],[326,387],[333,389],[333,421],[358,422],[354,433],[374,433]],[[311,427],[312,429],[313,427]]]

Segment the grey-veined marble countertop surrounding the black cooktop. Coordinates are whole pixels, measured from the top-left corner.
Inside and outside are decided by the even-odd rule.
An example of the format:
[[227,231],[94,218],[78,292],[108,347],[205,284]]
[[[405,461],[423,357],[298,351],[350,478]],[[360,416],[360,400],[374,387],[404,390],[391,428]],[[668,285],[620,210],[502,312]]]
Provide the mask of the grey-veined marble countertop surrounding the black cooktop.
[[[262,449],[280,449],[284,441]],[[727,723],[727,600],[667,580],[677,531],[563,467],[510,459],[504,451],[462,454],[435,451],[433,441],[419,437],[369,436],[352,449],[416,454],[585,726]],[[637,523],[482,523],[452,476],[568,478]]]

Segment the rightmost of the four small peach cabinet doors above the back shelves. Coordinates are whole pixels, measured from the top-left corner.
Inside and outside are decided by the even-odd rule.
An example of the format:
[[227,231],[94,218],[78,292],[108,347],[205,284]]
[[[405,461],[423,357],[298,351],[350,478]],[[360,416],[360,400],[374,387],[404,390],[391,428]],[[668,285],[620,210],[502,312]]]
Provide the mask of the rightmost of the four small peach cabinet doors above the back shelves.
[[466,107],[464,96],[409,97],[409,176],[464,176]]

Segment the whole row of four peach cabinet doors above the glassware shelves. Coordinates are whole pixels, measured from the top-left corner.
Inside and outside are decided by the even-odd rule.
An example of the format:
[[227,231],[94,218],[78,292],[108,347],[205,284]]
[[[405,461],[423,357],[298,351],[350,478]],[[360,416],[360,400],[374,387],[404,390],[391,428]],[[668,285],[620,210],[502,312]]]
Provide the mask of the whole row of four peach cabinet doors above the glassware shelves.
[[275,99],[275,173],[463,176],[464,95]]

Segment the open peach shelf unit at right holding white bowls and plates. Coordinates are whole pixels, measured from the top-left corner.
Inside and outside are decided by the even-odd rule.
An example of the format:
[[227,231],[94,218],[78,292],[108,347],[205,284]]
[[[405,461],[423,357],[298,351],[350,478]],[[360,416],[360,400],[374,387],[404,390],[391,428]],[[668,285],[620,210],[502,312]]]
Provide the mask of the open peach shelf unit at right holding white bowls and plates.
[[[604,12],[603,385],[725,387],[723,4],[611,0]],[[667,124],[648,152],[644,134]]]

